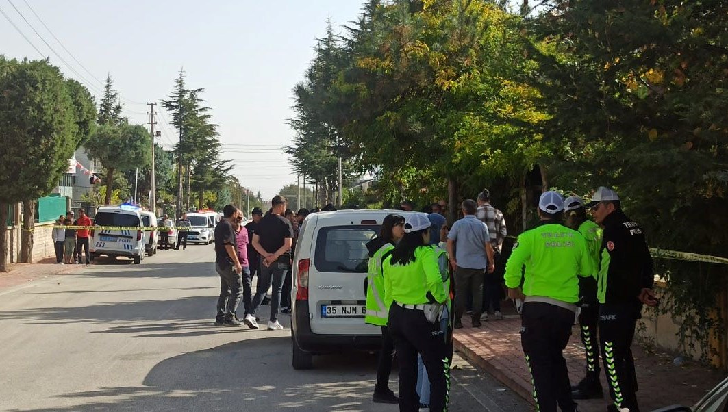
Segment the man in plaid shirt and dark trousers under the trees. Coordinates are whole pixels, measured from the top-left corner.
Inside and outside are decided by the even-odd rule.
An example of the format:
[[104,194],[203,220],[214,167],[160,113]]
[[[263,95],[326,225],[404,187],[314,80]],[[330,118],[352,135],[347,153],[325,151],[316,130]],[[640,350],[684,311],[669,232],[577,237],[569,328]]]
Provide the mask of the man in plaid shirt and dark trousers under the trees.
[[[478,212],[475,213],[475,217],[480,219],[488,225],[488,234],[491,236],[491,245],[495,251],[495,263],[496,267],[499,267],[499,258],[501,248],[503,245],[503,239],[507,234],[505,226],[505,218],[503,213],[491,205],[491,193],[488,189],[483,189],[478,194]],[[502,320],[503,315],[500,312],[500,297],[501,297],[501,279],[499,271],[486,274],[485,281],[483,282],[483,316],[480,320],[488,320],[488,311],[490,306],[493,306],[493,318],[495,320]]]

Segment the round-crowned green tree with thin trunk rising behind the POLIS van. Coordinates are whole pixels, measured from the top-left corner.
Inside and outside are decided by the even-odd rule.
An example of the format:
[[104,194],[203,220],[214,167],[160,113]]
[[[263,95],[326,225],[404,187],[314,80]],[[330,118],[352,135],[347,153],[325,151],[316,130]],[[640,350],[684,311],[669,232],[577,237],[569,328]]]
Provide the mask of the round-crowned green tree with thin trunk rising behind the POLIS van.
[[111,194],[114,193],[114,173],[148,167],[151,162],[150,146],[149,132],[138,124],[106,123],[100,125],[91,135],[85,147],[106,168],[104,202],[107,205],[111,204]]

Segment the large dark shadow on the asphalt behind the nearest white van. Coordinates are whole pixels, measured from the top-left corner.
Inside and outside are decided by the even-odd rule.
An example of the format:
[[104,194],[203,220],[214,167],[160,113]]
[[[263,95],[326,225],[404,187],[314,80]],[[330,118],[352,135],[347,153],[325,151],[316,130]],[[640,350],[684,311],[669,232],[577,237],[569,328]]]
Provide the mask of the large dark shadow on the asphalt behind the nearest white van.
[[164,360],[138,387],[62,395],[76,405],[52,410],[396,410],[371,403],[372,355],[317,357],[318,369],[312,371],[294,371],[290,356],[288,336],[237,341]]

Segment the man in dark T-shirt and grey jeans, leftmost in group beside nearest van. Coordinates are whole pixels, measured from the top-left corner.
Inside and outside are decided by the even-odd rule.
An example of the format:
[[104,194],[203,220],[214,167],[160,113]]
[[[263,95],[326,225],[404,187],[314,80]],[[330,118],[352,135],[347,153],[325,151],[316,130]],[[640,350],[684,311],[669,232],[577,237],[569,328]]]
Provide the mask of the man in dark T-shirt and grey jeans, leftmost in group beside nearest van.
[[223,219],[215,226],[215,272],[220,275],[220,296],[215,325],[240,326],[235,309],[240,304],[242,265],[237,257],[237,239],[233,222],[237,207],[225,205]]

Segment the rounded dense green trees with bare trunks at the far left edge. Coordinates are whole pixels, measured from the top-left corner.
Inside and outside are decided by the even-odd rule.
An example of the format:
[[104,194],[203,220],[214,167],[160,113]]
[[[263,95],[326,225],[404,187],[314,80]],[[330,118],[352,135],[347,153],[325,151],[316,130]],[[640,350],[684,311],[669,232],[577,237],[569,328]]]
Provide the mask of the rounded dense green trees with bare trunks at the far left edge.
[[[70,89],[70,90],[69,90]],[[68,169],[87,128],[87,92],[63,79],[45,60],[0,57],[0,221],[7,205],[24,202],[21,261],[31,261],[33,202],[49,194]],[[79,104],[79,106],[76,106]],[[3,223],[4,225],[4,223]],[[0,230],[0,271],[5,270],[7,237]]]

